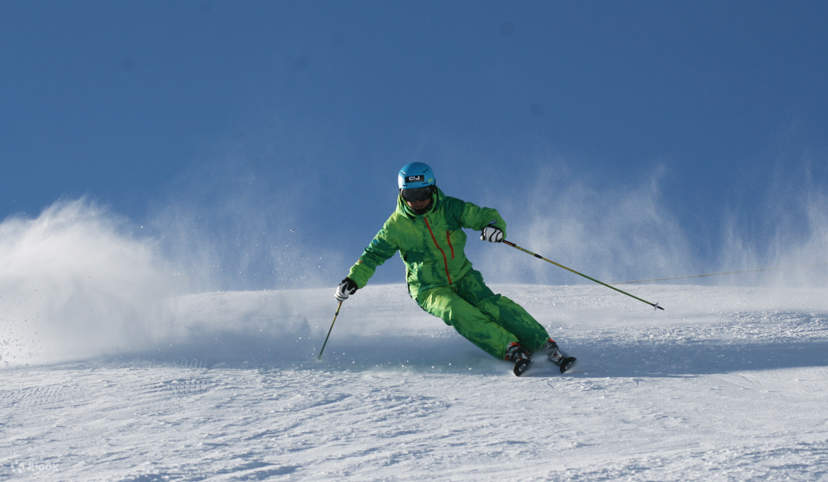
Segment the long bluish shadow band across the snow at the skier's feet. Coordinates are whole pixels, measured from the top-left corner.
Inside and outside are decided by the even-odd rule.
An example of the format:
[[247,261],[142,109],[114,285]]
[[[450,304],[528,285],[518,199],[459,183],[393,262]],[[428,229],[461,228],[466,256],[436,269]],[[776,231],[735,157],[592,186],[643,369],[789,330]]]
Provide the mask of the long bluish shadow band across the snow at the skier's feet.
[[[750,370],[775,370],[828,366],[828,341],[791,342],[635,342],[603,340],[559,340],[578,357],[576,377],[684,377]],[[418,372],[503,375],[510,364],[499,361],[458,335],[366,336],[334,338],[321,360],[319,346],[285,343],[278,339],[230,334],[205,340],[190,340],[130,355],[108,357],[107,363],[151,361],[171,366],[203,368],[262,368],[293,370],[365,371],[412,370]],[[541,376],[557,376],[544,368],[544,360],[533,369]],[[532,373],[533,371],[530,371]]]

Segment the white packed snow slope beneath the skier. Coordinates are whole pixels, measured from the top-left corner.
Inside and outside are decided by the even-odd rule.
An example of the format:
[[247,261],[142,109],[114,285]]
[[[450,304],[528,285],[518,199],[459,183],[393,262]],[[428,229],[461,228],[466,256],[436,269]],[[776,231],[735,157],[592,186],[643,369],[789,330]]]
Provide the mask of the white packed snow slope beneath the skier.
[[514,377],[403,285],[346,301],[321,361],[333,289],[6,310],[0,479],[828,479],[824,289],[494,287],[575,372]]

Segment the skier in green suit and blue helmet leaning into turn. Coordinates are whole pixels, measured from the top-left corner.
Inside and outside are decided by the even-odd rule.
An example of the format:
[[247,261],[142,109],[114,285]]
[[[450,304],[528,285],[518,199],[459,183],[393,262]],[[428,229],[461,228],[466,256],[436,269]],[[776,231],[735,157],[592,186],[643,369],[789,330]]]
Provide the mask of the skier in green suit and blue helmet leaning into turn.
[[377,266],[399,251],[411,298],[485,352],[513,362],[515,375],[529,368],[537,351],[562,373],[569,369],[575,358],[563,354],[520,305],[493,293],[463,252],[463,228],[480,230],[480,239],[493,243],[506,237],[500,214],[446,196],[421,162],[403,166],[397,186],[396,210],[339,283],[336,299],[344,301],[364,287]]

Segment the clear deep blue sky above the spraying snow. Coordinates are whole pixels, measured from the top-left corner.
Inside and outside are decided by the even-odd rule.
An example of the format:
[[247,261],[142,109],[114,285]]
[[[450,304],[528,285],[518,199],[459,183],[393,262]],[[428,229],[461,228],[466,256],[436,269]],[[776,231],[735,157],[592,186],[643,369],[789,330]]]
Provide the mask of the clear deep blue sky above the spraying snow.
[[[828,186],[825,18],[816,1],[6,1],[0,219],[85,196],[162,243],[192,226],[225,287],[303,283],[278,274],[291,262],[335,283],[418,160],[592,272],[729,268],[734,232],[761,264],[780,229],[813,233]],[[619,246],[681,263],[614,269]]]

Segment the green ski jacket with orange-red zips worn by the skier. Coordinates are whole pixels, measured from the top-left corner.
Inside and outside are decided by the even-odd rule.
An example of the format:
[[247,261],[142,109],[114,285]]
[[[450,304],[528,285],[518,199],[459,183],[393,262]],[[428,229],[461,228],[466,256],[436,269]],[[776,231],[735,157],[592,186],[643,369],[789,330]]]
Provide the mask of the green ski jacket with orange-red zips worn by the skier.
[[431,209],[418,215],[397,196],[397,209],[351,267],[348,277],[362,288],[377,266],[399,251],[409,292],[417,299],[421,290],[450,286],[468,273],[472,265],[463,251],[463,228],[481,230],[489,224],[506,236],[506,223],[495,209],[446,196],[438,189]]

